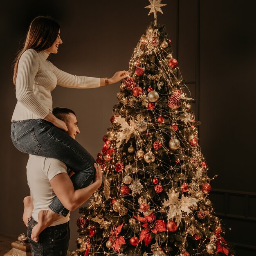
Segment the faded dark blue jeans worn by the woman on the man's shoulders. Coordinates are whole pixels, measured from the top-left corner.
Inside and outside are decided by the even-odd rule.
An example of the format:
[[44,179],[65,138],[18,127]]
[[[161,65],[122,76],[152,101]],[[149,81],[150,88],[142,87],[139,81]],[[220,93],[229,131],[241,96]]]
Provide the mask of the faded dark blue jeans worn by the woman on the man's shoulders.
[[[21,152],[64,162],[75,173],[70,178],[75,190],[88,186],[94,179],[95,159],[75,139],[44,119],[12,121],[11,140]],[[57,197],[49,208],[61,216],[69,213]]]

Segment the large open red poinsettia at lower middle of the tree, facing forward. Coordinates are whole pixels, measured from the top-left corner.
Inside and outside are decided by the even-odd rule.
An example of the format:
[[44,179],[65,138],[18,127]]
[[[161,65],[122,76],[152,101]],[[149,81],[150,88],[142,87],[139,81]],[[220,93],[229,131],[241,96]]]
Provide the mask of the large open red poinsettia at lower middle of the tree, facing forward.
[[151,232],[157,234],[157,232],[167,231],[164,220],[155,221],[155,215],[153,213],[148,216],[144,215],[144,218],[140,216],[134,216],[134,218],[144,223],[141,225],[141,227],[144,227],[144,229],[140,233],[139,240],[141,242],[144,240],[145,245],[148,245],[152,240],[150,237]]

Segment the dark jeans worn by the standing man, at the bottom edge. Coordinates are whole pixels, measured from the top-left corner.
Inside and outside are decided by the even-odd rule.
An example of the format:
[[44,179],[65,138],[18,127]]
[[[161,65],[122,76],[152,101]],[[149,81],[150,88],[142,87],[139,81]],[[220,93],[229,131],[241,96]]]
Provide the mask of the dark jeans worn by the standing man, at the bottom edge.
[[37,222],[31,218],[28,223],[27,236],[31,245],[32,256],[66,256],[70,240],[69,222],[47,227],[39,235],[38,243],[31,240],[32,228]]

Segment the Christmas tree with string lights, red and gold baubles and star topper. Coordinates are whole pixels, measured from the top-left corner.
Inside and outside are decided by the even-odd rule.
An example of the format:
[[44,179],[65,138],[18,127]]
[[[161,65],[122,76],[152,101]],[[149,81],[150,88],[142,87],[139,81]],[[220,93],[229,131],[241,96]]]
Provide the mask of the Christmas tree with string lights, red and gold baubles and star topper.
[[200,122],[157,23],[135,47],[98,154],[105,180],[77,220],[77,255],[234,255],[215,215]]

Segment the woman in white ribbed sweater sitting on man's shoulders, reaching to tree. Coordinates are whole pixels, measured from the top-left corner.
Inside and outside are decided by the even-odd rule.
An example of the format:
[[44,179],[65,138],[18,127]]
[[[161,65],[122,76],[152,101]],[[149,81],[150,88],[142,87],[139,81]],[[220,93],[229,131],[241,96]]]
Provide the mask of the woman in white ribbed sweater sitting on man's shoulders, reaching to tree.
[[[85,187],[94,178],[94,158],[67,133],[67,126],[52,114],[51,92],[56,85],[67,88],[97,88],[116,83],[126,77],[119,71],[111,78],[74,76],[59,70],[47,61],[62,44],[60,26],[50,17],[32,20],[23,49],[14,66],[17,104],[12,116],[11,139],[14,146],[25,153],[52,157],[65,162],[74,171],[84,173]],[[75,186],[75,184],[74,184]],[[69,212],[55,198],[49,208],[58,215]]]

